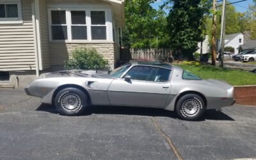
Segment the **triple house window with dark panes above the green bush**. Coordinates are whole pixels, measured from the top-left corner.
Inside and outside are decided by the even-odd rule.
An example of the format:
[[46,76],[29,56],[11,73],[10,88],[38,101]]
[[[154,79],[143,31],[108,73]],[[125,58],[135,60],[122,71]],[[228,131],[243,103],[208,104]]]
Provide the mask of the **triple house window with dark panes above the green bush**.
[[108,16],[111,16],[111,12],[99,9],[49,9],[50,40],[112,42],[113,28],[109,26]]

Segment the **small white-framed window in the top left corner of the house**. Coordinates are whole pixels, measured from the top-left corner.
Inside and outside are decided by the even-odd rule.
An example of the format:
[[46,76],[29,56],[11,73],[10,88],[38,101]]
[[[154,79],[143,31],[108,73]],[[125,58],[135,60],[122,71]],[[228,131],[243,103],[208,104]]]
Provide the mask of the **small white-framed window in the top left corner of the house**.
[[20,0],[0,0],[0,24],[20,23],[21,17]]

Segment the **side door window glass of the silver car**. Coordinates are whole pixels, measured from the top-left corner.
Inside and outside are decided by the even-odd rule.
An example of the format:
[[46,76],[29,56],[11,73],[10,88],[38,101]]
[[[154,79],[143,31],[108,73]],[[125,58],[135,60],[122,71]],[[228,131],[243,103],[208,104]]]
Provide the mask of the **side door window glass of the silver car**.
[[131,76],[131,79],[140,81],[167,82],[170,72],[164,68],[135,66],[125,76]]

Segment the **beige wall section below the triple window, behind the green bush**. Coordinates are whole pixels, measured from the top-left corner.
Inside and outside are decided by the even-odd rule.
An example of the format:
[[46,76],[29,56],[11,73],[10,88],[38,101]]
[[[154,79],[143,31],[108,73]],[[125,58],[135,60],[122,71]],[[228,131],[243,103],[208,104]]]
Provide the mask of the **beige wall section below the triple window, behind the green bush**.
[[75,47],[88,47],[94,48],[109,61],[109,65],[114,65],[114,44],[64,44],[64,43],[51,43],[51,65],[63,65],[64,61],[68,60],[68,54]]

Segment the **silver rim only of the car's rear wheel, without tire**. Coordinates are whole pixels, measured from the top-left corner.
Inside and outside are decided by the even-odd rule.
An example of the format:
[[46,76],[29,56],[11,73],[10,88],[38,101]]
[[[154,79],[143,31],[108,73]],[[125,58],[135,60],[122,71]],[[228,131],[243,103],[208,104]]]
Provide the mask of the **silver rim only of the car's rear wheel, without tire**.
[[186,116],[195,116],[200,110],[200,103],[195,99],[188,99],[182,104],[182,111]]

